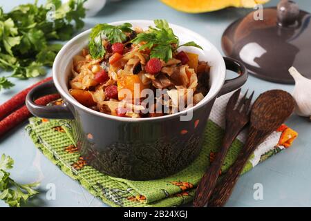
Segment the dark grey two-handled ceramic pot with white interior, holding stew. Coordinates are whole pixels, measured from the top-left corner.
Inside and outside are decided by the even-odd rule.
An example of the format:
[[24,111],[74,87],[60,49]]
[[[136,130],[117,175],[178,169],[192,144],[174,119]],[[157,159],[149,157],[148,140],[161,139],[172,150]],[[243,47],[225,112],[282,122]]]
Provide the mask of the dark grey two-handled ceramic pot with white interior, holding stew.
[[[147,29],[153,21],[119,21]],[[223,58],[204,37],[171,24],[181,44],[196,41],[204,50],[187,47],[200,60],[211,66],[209,93],[196,106],[162,117],[132,119],[107,115],[79,104],[68,93],[68,80],[74,55],[88,43],[91,30],[68,41],[53,64],[53,82],[47,82],[28,93],[26,104],[33,115],[50,119],[70,119],[73,136],[84,160],[95,169],[114,177],[130,180],[153,180],[167,177],[191,164],[200,153],[202,134],[216,97],[241,87],[247,80],[247,70],[241,62]],[[226,68],[240,75],[225,80]],[[62,106],[38,106],[38,97],[58,92]],[[181,116],[191,115],[190,120]]]

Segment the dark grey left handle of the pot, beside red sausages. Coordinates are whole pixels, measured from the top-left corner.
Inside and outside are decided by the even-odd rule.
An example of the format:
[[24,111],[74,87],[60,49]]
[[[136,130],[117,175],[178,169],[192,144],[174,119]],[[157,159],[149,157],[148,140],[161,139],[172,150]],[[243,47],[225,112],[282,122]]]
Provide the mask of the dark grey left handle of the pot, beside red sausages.
[[57,106],[42,106],[34,102],[35,99],[38,99],[39,97],[55,93],[57,93],[57,89],[53,80],[32,88],[26,97],[26,106],[30,113],[37,117],[48,119],[74,119],[73,113],[71,113],[69,108],[64,104]]

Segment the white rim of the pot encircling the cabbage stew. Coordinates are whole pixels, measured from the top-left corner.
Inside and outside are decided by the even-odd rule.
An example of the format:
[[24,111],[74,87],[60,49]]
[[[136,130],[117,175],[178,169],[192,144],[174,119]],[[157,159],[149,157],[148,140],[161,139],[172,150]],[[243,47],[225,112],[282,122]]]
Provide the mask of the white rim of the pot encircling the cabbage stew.
[[[151,25],[151,23],[153,24],[153,21],[151,20],[124,20],[124,21],[115,21],[112,23],[109,23],[111,25],[119,25],[120,23],[141,23],[143,24],[147,24],[147,25]],[[82,109],[84,112],[86,113],[90,113],[92,115],[96,115],[98,117],[104,117],[104,118],[109,118],[109,119],[113,119],[113,120],[117,120],[117,121],[121,121],[121,122],[147,122],[147,121],[158,121],[158,120],[164,120],[164,119],[169,119],[169,118],[175,118],[175,117],[180,117],[181,115],[187,115],[187,113],[189,111],[196,111],[198,108],[202,108],[202,106],[205,106],[208,102],[212,101],[220,92],[221,88],[223,87],[223,84],[225,83],[225,75],[226,75],[226,66],[225,66],[225,61],[223,59],[223,56],[220,54],[219,50],[214,46],[214,44],[211,44],[210,41],[208,41],[207,39],[205,39],[205,37],[202,37],[201,35],[199,35],[198,33],[189,30],[187,28],[184,28],[182,26],[178,26],[175,25],[173,23],[169,23],[169,26],[171,28],[173,28],[174,32],[175,30],[179,30],[182,32],[186,32],[189,33],[191,35],[196,36],[196,39],[199,39],[200,41],[204,41],[205,44],[209,45],[211,52],[213,52],[214,56],[217,58],[217,65],[218,67],[218,71],[217,74],[220,75],[220,79],[218,81],[216,81],[213,84],[217,84],[216,88],[214,89],[214,93],[211,93],[211,90],[209,90],[209,93],[207,93],[207,95],[204,97],[204,99],[202,99],[202,101],[200,101],[198,104],[196,104],[195,106],[189,108],[189,109],[185,109],[184,111],[180,111],[178,113],[174,113],[171,115],[164,115],[161,117],[146,117],[146,118],[129,118],[129,117],[117,117],[117,116],[113,116],[113,115],[109,115],[106,113],[101,113],[99,111],[94,111],[91,108],[88,108],[86,106],[83,106],[82,104],[80,104],[79,102],[77,102],[76,99],[74,99],[69,93],[68,93],[68,89],[63,88],[60,84],[60,77],[64,77],[64,75],[60,75],[57,73],[57,66],[59,66],[60,61],[64,58],[64,55],[66,53],[66,50],[72,46],[75,41],[82,39],[84,37],[86,37],[86,35],[88,36],[91,33],[91,28],[88,30],[85,30],[84,32],[80,33],[79,35],[73,37],[73,39],[70,39],[70,41],[68,41],[63,48],[58,52],[57,56],[55,57],[55,61],[53,64],[53,81],[55,84],[55,87],[57,88],[58,92],[60,95],[62,95],[62,97],[66,100],[66,102],[70,103],[71,105]],[[176,33],[176,35],[178,36],[178,33]],[[179,34],[180,35],[180,34]],[[195,39],[194,39],[195,41]],[[204,48],[203,48],[203,51]],[[72,59],[72,58],[71,58]],[[209,61],[207,61],[209,62]],[[213,68],[213,66],[211,66],[211,68]],[[211,86],[210,86],[211,88]]]

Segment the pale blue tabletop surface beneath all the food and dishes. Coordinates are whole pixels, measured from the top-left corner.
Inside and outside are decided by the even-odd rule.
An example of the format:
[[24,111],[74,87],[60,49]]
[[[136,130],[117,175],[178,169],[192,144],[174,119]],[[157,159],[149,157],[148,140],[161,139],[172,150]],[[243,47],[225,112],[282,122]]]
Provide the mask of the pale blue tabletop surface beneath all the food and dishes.
[[[28,2],[32,1],[4,0],[0,5],[5,11],[8,11],[19,3]],[[39,1],[39,3],[43,2]],[[276,6],[277,2],[272,0],[266,6]],[[310,1],[297,0],[296,2],[303,10],[311,12]],[[96,23],[162,18],[200,33],[221,51],[220,37],[223,31],[229,23],[243,17],[247,12],[249,10],[230,8],[218,12],[191,15],[173,10],[156,0],[111,1],[96,17],[85,19],[84,30],[93,27]],[[7,74],[1,73],[1,76]],[[38,80],[14,79],[16,86],[12,90],[0,92],[0,104]],[[255,90],[256,96],[265,90],[276,88],[289,92],[293,90],[293,86],[273,84],[252,76],[243,86],[244,90],[246,88]],[[238,180],[227,206],[311,206],[311,122],[294,115],[287,124],[299,132],[299,139],[288,150],[259,164],[252,171],[243,175]],[[0,153],[6,153],[14,158],[15,167],[10,172],[17,182],[27,183],[37,180],[41,182],[39,189],[41,194],[30,200],[26,206],[107,206],[99,199],[94,198],[75,180],[64,175],[57,166],[54,166],[41,152],[37,151],[24,131],[24,126],[26,123],[1,138]],[[55,200],[46,198],[46,186],[50,183],[56,186]],[[253,186],[256,183],[263,184],[263,200],[254,200]],[[7,205],[0,201],[0,206]]]

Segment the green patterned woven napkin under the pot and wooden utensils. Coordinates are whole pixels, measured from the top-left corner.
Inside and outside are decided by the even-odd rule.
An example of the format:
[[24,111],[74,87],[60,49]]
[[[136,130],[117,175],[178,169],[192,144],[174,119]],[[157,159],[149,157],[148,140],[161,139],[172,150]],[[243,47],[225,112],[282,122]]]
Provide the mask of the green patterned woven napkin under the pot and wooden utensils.
[[[66,120],[32,117],[26,130],[35,146],[51,162],[110,206],[178,206],[190,202],[200,177],[214,159],[223,137],[223,129],[209,120],[202,151],[187,169],[164,179],[140,182],[110,177],[88,166],[77,152]],[[282,132],[276,133],[280,138],[282,134]],[[284,140],[284,136],[282,139]],[[234,141],[225,159],[222,173],[225,173],[234,162],[242,146],[239,140]],[[284,149],[280,143],[270,148],[261,146],[265,148],[265,153],[261,153],[259,162]],[[255,164],[250,159],[243,173],[252,169]]]

